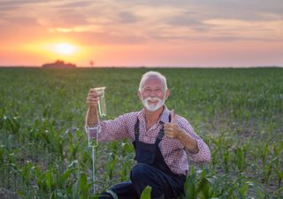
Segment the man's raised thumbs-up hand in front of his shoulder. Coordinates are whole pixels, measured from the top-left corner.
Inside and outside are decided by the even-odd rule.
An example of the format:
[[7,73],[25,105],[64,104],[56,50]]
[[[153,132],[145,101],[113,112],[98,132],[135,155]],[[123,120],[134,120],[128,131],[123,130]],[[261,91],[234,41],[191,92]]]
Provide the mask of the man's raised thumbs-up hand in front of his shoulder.
[[171,122],[164,124],[164,134],[169,138],[177,138],[180,134],[181,128],[177,123],[176,113],[172,110],[171,114]]

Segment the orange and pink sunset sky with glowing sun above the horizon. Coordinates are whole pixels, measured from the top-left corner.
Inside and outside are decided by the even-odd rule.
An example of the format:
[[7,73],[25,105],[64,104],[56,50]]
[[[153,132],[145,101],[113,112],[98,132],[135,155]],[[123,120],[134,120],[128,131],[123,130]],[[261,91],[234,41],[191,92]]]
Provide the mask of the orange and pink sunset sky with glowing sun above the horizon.
[[283,65],[282,0],[0,0],[0,65]]

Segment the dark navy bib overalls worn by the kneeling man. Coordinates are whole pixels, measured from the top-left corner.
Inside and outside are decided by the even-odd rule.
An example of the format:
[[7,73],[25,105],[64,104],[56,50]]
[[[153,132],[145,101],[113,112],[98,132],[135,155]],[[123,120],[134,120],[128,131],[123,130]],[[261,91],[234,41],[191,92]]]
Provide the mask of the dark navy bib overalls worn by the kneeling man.
[[[169,122],[171,117],[169,117]],[[134,150],[137,164],[131,171],[131,181],[119,183],[110,188],[106,195],[116,195],[119,199],[139,199],[142,190],[149,185],[151,197],[153,199],[170,199],[177,197],[184,192],[185,175],[173,173],[164,161],[164,157],[158,147],[159,142],[164,137],[164,127],[157,135],[154,144],[140,142],[139,127],[140,121],[137,119],[134,125],[135,140]],[[105,193],[104,193],[105,194]],[[99,197],[100,199],[114,197]]]

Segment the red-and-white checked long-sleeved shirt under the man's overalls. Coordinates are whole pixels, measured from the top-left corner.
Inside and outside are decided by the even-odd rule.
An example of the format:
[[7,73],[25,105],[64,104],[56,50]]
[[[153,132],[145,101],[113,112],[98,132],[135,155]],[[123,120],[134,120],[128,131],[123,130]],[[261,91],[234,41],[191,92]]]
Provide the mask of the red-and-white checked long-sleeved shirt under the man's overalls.
[[[140,141],[153,144],[156,142],[159,130],[163,123],[169,122],[170,111],[165,107],[164,111],[157,123],[146,130],[145,112],[142,111],[130,112],[119,116],[113,120],[99,121],[97,125],[101,126],[101,133],[98,134],[98,142],[110,142],[119,139],[129,138],[134,142],[134,124],[137,119],[140,120]],[[191,154],[177,140],[164,138],[159,143],[159,148],[164,157],[165,163],[169,166],[172,172],[178,174],[187,174],[188,158],[190,156],[195,163],[206,163],[210,161],[210,149],[203,140],[195,134],[193,127],[188,123],[187,119],[176,115],[178,125],[183,128],[187,134],[193,137],[198,146],[198,153]],[[89,134],[92,138],[96,138],[96,130],[90,130]]]

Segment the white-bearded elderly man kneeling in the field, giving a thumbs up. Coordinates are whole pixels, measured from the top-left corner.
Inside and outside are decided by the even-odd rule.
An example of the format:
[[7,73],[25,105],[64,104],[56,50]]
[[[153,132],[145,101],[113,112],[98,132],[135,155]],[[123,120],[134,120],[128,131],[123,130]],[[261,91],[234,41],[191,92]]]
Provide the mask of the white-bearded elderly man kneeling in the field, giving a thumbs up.
[[131,180],[109,188],[100,199],[138,199],[148,185],[152,188],[151,198],[176,198],[184,192],[187,156],[195,163],[210,161],[210,149],[195,134],[187,119],[164,105],[169,95],[170,90],[161,73],[144,73],[138,90],[143,109],[117,119],[99,121],[98,96],[94,89],[90,89],[86,115],[90,134],[96,139],[95,127],[99,125],[98,142],[129,138],[134,144],[137,162],[131,171]]

